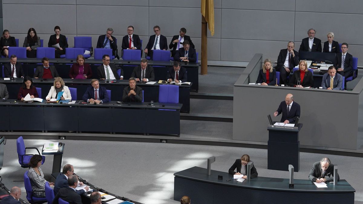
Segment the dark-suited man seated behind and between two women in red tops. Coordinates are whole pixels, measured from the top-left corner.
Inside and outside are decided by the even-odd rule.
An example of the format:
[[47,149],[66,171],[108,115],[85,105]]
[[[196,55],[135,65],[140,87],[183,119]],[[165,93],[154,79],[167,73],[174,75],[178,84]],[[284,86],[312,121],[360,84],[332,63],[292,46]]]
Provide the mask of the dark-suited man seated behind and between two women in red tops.
[[299,53],[294,49],[295,43],[290,41],[287,43],[287,49],[280,50],[277,57],[276,71],[280,72],[280,79],[285,85],[288,84],[287,75],[299,64]]

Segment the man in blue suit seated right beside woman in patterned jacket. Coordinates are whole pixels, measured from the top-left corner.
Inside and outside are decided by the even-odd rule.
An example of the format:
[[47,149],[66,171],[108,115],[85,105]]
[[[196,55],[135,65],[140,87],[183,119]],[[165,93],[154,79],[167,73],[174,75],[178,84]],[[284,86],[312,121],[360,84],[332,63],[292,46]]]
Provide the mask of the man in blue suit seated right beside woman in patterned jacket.
[[[70,164],[64,165],[62,173],[58,174],[56,182],[54,183],[54,189],[53,189],[54,195],[57,195],[59,189],[68,187],[68,177],[73,174],[74,174],[73,166]],[[78,182],[78,185],[84,185],[84,184],[82,182]],[[81,195],[87,192],[88,189],[89,189],[88,186],[86,186],[85,189],[76,190],[76,193]]]

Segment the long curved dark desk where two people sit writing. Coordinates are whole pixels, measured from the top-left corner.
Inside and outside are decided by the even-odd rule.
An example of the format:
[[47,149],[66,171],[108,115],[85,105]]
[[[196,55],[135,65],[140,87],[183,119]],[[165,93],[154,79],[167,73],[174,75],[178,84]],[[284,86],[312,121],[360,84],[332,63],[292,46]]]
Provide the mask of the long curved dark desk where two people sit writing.
[[[219,180],[218,175],[223,179]],[[289,179],[257,177],[241,183],[227,181],[232,176],[228,172],[212,170],[207,175],[207,169],[201,167],[176,172],[174,176],[174,200],[178,201],[188,195],[193,203],[199,204],[354,203],[355,189],[346,180],[317,188],[310,180],[294,179],[294,188],[289,188]]]

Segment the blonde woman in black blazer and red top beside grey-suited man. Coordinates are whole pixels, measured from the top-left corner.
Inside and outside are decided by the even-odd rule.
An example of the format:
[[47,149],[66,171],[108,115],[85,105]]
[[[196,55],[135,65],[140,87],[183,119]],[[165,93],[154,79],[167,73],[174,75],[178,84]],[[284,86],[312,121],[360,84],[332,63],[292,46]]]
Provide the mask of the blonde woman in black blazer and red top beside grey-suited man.
[[[298,81],[300,81],[299,85],[297,85]],[[314,87],[313,73],[307,69],[307,63],[305,60],[300,60],[299,70],[296,70],[290,78],[290,86],[300,88],[309,86]]]

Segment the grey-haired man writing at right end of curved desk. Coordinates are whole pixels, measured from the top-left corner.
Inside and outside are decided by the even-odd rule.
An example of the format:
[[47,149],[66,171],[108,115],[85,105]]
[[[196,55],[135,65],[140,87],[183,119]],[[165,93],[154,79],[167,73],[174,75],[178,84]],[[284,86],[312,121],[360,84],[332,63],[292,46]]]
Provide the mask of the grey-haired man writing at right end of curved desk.
[[[337,175],[339,181],[339,174]],[[334,164],[330,163],[330,159],[324,157],[320,162],[315,162],[311,167],[309,179],[313,182],[329,182],[334,180]]]

